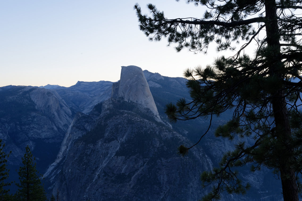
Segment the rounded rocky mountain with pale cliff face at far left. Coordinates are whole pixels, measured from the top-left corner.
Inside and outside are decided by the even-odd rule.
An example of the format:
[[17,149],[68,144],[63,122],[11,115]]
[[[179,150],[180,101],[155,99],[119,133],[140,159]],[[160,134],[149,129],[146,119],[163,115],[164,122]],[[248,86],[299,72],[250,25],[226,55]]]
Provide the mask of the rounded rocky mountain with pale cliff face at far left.
[[[0,138],[6,144],[5,152],[12,151],[8,168],[20,167],[29,145],[38,169],[44,171],[59,151],[72,112],[55,90],[32,86],[0,89]],[[10,171],[10,177],[18,179],[15,171]]]

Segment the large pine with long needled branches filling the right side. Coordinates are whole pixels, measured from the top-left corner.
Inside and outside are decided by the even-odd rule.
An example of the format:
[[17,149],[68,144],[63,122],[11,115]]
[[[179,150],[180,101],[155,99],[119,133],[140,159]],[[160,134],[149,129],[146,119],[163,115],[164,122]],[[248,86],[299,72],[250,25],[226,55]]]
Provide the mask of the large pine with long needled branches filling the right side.
[[[215,136],[242,140],[223,155],[218,168],[201,175],[204,186],[214,184],[203,199],[219,199],[223,190],[245,193],[249,185],[240,181],[234,168],[251,164],[252,171],[263,166],[273,169],[281,179],[284,200],[297,201],[302,170],[302,24],[295,11],[302,9],[301,1],[186,1],[206,6],[204,17],[168,19],[152,4],[147,5],[149,15],[142,14],[138,4],[134,9],[140,30],[150,40],[166,37],[169,45],[177,44],[176,51],[188,48],[206,53],[215,42],[217,51],[236,50],[232,57],[216,58],[205,68],[187,69],[184,75],[192,101],[180,99],[166,106],[173,122],[212,120],[213,115],[233,112]],[[236,44],[243,45],[238,49]],[[253,44],[257,48],[251,57],[244,51]],[[246,143],[246,138],[254,143]],[[185,155],[193,146],[180,146],[179,152]]]

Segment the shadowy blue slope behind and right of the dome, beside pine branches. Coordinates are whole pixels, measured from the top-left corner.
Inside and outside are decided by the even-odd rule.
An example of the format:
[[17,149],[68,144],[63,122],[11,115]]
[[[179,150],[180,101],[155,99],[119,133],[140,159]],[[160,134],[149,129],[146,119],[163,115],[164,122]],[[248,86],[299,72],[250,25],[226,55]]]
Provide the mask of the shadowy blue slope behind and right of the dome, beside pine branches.
[[[189,100],[191,100],[188,93],[188,88],[186,87],[187,80],[185,78],[161,76],[158,73],[151,73],[146,70],[143,72],[145,74],[146,80],[148,81],[150,91],[156,103],[156,107],[163,120],[168,121],[164,113],[164,108],[167,103],[176,103],[180,98],[185,98],[188,100],[188,102]],[[220,162],[223,153],[234,149],[233,145],[235,142],[224,139],[222,137],[214,137],[216,128],[221,124],[225,124],[232,117],[232,114],[232,111],[228,111],[218,117],[214,116],[212,119],[211,128],[208,131],[207,135],[205,135],[202,138],[201,142],[198,143],[197,146],[195,146],[201,147],[203,149],[204,153],[210,158],[214,167],[218,167],[218,162]],[[173,130],[177,131],[182,136],[191,141],[189,143],[180,143],[178,144],[178,146],[184,144],[185,146],[190,147],[198,142],[201,135],[204,134],[204,132],[207,130],[209,124],[209,118],[196,118],[189,121],[178,121],[177,123],[172,124]],[[237,140],[240,141],[242,139],[237,138]],[[247,141],[246,143],[249,144],[252,142]],[[190,155],[190,152],[191,149],[188,155]],[[283,196],[281,194],[281,181],[275,177],[271,170],[262,168],[261,171],[255,171],[252,173],[249,171],[250,166],[248,165],[242,168],[238,168],[238,170],[240,172],[240,177],[242,178],[242,180],[248,181],[251,184],[251,189],[247,191],[246,195],[244,196],[224,195],[223,199],[255,201],[283,200]],[[199,195],[198,199],[200,198],[201,195]]]

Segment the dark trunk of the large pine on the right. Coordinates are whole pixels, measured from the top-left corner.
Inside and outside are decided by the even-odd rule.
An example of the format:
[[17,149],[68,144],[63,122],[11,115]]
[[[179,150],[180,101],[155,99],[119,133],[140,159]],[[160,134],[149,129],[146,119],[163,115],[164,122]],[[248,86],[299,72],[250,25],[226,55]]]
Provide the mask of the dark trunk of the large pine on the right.
[[[270,76],[276,76],[279,80],[284,80],[284,75],[281,69],[284,68],[281,62],[280,51],[280,35],[278,30],[278,17],[275,0],[265,0],[265,28],[267,36],[268,47],[268,62]],[[289,125],[288,111],[286,107],[286,100],[283,96],[282,89],[277,90],[273,96],[272,107],[275,118],[276,138],[278,140],[275,149],[282,148],[282,154],[279,158],[279,171],[281,177],[282,191],[284,201],[299,201],[298,187],[296,181],[296,174],[290,168],[289,162],[293,157],[291,147],[291,128]]]

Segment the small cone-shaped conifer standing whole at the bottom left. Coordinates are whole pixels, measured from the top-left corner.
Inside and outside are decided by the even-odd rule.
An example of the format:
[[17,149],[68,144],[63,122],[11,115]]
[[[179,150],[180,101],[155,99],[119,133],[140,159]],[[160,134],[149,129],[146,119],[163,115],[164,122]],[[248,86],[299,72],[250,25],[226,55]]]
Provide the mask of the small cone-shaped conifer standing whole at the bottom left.
[[[41,185],[41,179],[38,177],[38,171],[36,170],[35,158],[27,145],[25,148],[25,154],[22,158],[24,166],[19,168],[19,180],[20,184],[16,184],[19,189],[17,197],[19,200],[24,201],[43,201],[47,200],[44,188]],[[42,175],[40,175],[42,177]]]

